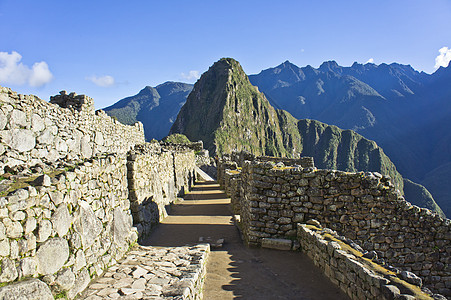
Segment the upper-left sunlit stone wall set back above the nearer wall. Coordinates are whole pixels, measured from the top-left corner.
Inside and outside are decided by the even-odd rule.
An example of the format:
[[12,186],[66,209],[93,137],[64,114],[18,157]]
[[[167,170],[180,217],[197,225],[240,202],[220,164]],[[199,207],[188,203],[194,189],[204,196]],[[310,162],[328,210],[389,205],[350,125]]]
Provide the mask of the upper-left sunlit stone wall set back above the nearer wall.
[[91,98],[71,93],[45,102],[0,87],[0,174],[57,160],[126,153],[144,143],[141,123],[127,126],[94,112]]

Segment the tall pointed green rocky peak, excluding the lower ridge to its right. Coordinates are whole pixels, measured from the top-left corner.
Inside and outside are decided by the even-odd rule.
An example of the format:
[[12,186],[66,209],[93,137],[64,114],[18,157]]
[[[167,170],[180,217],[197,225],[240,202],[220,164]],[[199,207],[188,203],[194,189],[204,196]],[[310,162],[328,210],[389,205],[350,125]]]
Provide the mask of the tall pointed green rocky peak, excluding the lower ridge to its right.
[[277,113],[237,61],[221,59],[194,85],[169,134],[202,140],[211,153],[286,156]]

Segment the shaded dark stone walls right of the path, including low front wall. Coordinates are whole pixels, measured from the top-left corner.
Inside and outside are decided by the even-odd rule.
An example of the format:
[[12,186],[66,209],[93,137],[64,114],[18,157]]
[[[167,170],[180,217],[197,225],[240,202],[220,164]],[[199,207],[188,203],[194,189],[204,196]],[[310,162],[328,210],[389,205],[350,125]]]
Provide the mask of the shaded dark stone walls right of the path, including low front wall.
[[220,161],[218,181],[248,245],[300,247],[352,299],[451,296],[451,220],[405,201],[387,176],[241,152]]

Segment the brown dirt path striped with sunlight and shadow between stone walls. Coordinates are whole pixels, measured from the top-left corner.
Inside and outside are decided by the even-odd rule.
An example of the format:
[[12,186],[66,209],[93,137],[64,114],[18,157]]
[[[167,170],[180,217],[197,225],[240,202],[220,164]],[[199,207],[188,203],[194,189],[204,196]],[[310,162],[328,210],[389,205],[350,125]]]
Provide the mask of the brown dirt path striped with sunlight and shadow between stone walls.
[[198,184],[144,244],[184,246],[198,244],[199,237],[225,239],[209,256],[204,299],[349,299],[304,254],[245,247],[229,203],[215,182]]

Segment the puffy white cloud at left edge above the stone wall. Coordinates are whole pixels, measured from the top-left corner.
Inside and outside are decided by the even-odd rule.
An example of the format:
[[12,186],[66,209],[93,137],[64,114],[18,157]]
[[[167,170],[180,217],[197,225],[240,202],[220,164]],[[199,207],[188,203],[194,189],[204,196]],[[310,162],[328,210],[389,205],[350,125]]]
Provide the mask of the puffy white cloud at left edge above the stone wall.
[[21,63],[22,55],[16,51],[0,52],[0,83],[40,87],[53,79],[52,72],[45,61],[28,67]]

